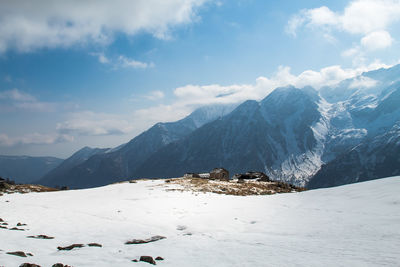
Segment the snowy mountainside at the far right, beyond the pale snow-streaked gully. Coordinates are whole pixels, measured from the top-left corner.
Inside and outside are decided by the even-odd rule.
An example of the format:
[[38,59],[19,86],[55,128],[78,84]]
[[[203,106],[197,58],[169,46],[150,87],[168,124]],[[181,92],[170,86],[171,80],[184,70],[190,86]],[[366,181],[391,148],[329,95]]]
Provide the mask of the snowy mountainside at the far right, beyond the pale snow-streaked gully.
[[[389,77],[393,77],[394,70],[397,71],[397,80],[385,80],[387,72]],[[338,103],[344,107],[341,111],[344,115],[331,119],[341,120],[339,125],[331,123],[333,131],[327,142],[326,164],[311,178],[310,188],[337,186],[400,173],[399,74],[398,66],[366,73],[366,77],[383,76],[385,79],[375,80],[377,84],[369,90],[354,92],[348,100]],[[343,127],[346,124],[347,127]]]

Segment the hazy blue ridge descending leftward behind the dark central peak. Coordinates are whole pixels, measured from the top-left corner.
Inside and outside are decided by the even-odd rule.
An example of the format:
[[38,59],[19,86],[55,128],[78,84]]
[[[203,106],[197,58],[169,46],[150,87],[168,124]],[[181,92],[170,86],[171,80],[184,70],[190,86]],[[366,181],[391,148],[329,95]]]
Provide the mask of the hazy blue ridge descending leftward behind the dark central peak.
[[[157,123],[117,149],[99,151],[72,168],[49,173],[39,182],[48,186],[65,185],[86,188],[127,179],[135,169],[161,147],[177,141],[203,124],[229,113],[235,105],[205,106],[186,118],[169,123]],[[72,156],[71,158],[73,158]],[[70,159],[66,161],[70,161]],[[75,161],[73,161],[75,162]],[[68,164],[68,166],[71,166]]]

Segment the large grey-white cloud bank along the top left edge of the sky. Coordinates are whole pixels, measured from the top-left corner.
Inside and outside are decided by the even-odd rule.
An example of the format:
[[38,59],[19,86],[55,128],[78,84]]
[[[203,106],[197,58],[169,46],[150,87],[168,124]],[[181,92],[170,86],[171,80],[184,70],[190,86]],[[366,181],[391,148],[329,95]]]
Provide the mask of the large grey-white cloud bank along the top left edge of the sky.
[[148,32],[168,38],[171,27],[191,23],[205,0],[4,0],[0,9],[0,52],[9,48],[107,44],[115,33]]

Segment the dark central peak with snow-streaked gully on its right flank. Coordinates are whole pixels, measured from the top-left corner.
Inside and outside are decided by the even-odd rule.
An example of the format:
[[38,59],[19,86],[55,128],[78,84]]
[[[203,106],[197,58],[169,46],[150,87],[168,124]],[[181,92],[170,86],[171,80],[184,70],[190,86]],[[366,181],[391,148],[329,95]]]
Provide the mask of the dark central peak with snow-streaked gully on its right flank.
[[[277,179],[288,177],[287,181],[308,177],[320,166],[314,166],[319,144],[311,129],[321,119],[318,99],[310,88],[286,87],[261,102],[246,101],[229,115],[160,149],[134,175],[177,177],[188,170],[224,166],[233,173],[267,171]],[[298,164],[303,168],[296,168]]]

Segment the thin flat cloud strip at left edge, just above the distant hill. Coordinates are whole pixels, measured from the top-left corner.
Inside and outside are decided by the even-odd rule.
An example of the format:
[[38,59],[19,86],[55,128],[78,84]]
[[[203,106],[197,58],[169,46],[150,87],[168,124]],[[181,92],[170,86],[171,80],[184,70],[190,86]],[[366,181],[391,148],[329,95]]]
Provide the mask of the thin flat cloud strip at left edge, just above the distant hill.
[[7,134],[0,134],[0,146],[15,145],[49,145],[56,143],[72,142],[73,136],[66,134],[40,134],[32,133],[23,136],[9,137]]

